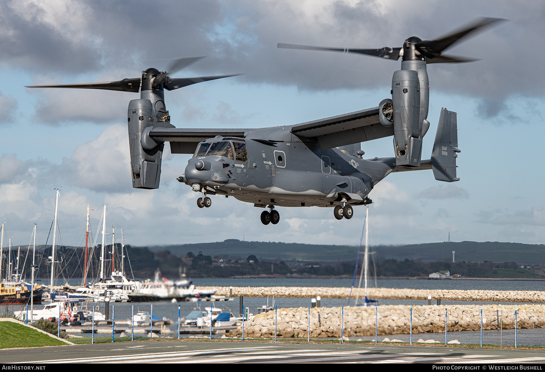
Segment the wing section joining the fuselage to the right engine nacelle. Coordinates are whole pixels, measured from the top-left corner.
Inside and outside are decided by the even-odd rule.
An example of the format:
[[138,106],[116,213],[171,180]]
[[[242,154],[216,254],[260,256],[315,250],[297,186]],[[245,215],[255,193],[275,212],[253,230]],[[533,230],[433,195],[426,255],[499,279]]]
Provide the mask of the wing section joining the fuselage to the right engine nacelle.
[[393,136],[393,125],[384,127],[378,107],[293,125],[298,137],[316,137],[323,150]]

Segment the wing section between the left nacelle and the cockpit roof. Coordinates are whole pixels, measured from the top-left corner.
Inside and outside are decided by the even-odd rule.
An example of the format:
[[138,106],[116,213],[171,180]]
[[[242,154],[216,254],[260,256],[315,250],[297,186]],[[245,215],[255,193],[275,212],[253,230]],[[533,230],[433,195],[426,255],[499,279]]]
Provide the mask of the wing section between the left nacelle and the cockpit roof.
[[192,154],[201,141],[215,136],[244,137],[252,130],[255,129],[154,128],[149,131],[149,136],[157,142],[170,142],[173,154]]

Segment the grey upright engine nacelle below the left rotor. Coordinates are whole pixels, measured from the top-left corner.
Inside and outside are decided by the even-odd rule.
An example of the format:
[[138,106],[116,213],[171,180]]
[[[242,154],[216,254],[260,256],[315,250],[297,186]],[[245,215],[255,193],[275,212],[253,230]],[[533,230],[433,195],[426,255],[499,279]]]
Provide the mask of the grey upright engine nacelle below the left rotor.
[[[155,126],[157,119],[149,99],[133,99],[129,102],[128,126],[129,147],[131,151],[132,187],[137,189],[157,189],[161,178],[161,157],[165,144],[149,145],[149,137],[142,134]],[[146,145],[144,148],[142,145]]]

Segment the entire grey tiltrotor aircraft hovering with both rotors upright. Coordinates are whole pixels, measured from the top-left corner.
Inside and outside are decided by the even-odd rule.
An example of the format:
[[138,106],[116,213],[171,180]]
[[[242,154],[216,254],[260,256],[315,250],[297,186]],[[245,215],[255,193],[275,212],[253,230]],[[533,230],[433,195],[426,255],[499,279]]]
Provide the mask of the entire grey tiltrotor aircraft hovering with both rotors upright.
[[[175,128],[165,92],[193,83],[234,76],[171,78],[196,58],[174,61],[169,72],[150,68],[141,78],[78,85],[32,86],[140,91],[128,108],[132,187],[157,189],[164,143],[171,153],[193,154],[178,181],[201,194],[197,206],[210,207],[210,195],[233,196],[268,208],[263,224],[277,224],[276,207],[331,207],[337,219],[350,219],[353,206],[372,203],[370,191],[392,172],[432,169],[435,179],[458,181],[456,112],[441,109],[431,159],[421,160],[427,121],[428,63],[469,62],[441,54],[463,37],[499,19],[483,18],[446,37],[422,41],[410,37],[402,47],[348,49],[278,44],[289,49],[362,53],[385,59],[402,57],[392,77],[391,98],[378,107],[296,125],[258,129]],[[394,157],[363,159],[361,142],[393,137]]]

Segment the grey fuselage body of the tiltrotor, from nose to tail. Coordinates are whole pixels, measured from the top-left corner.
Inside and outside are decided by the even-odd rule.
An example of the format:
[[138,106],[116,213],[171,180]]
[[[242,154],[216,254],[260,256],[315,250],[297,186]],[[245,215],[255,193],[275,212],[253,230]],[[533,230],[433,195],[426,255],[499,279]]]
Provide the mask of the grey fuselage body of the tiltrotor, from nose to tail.
[[[205,188],[207,194],[233,196],[256,207],[364,205],[374,185],[396,166],[395,158],[365,160],[304,140],[290,127],[275,127],[251,131],[244,139],[202,141],[186,166],[184,182],[195,191]],[[211,149],[228,145],[231,152],[210,155]]]

